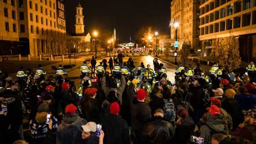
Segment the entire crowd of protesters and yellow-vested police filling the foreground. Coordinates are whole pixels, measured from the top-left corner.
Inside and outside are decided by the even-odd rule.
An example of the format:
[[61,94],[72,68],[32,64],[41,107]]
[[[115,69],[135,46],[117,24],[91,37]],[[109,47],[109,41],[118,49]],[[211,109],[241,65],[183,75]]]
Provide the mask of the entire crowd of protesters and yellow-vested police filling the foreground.
[[78,87],[61,65],[47,77],[21,67],[16,80],[2,69],[1,144],[256,144],[252,64],[246,74],[179,64],[175,82],[153,64],[92,57]]

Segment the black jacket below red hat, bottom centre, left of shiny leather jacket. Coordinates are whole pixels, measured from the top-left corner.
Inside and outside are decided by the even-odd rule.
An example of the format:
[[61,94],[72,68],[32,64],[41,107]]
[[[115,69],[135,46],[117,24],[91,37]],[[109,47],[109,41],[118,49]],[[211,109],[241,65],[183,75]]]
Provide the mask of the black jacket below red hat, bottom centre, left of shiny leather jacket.
[[129,144],[130,135],[127,122],[118,115],[110,114],[102,119],[105,133],[104,144]]

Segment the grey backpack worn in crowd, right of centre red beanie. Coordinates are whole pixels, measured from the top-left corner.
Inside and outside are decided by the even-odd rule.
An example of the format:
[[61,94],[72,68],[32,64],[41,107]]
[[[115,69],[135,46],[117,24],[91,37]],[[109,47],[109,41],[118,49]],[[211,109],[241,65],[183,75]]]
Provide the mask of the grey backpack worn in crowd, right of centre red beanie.
[[164,112],[165,118],[170,122],[175,122],[176,113],[175,113],[175,106],[171,98],[164,101]]

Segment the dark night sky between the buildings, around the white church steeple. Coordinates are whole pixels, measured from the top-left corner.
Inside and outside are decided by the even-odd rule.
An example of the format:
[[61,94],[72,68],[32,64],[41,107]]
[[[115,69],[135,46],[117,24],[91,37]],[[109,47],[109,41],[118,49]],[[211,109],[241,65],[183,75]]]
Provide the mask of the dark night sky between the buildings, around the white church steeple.
[[[75,7],[79,0],[66,0],[66,29],[74,33]],[[171,0],[80,0],[85,16],[85,32],[117,29],[119,42],[134,40],[143,26],[151,26],[160,34],[170,34]]]

